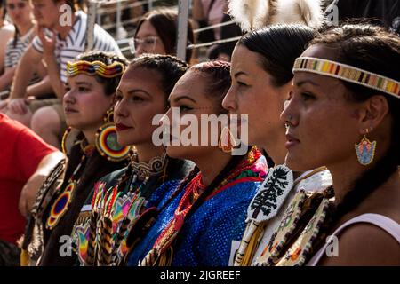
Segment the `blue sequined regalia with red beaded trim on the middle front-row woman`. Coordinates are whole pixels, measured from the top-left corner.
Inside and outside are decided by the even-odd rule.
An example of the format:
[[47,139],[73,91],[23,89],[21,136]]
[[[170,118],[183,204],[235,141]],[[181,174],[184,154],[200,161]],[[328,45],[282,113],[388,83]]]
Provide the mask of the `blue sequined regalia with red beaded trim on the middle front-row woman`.
[[231,242],[244,231],[245,209],[266,171],[267,162],[254,147],[208,194],[207,189],[199,193],[204,189],[201,172],[180,192],[172,190],[127,264],[227,266]]

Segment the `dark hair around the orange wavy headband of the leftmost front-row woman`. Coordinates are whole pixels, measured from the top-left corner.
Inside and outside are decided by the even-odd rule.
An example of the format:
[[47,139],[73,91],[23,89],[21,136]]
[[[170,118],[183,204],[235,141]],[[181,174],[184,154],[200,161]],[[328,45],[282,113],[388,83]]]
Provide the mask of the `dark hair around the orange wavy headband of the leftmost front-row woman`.
[[[114,53],[102,52],[102,51],[89,51],[78,55],[76,60],[84,60],[88,62],[100,61],[106,65],[111,65],[114,62],[121,62],[124,67],[127,67],[129,61]],[[95,75],[96,81],[104,85],[104,92],[107,96],[111,96],[116,92],[116,87],[121,80],[122,75],[116,76],[114,78],[104,78],[100,75]]]

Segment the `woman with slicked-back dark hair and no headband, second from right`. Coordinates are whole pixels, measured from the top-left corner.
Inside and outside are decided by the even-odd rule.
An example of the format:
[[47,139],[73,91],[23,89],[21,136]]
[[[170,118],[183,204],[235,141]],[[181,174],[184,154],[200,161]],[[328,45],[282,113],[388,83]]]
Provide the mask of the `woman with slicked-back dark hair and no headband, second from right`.
[[247,209],[235,266],[262,263],[263,248],[300,188],[313,193],[332,184],[324,168],[292,172],[284,165],[285,129],[280,114],[292,92],[294,59],[314,36],[316,32],[306,26],[275,25],[243,36],[233,52],[232,85],[222,106],[230,114],[248,114],[249,143],[263,149],[270,165],[275,164]]

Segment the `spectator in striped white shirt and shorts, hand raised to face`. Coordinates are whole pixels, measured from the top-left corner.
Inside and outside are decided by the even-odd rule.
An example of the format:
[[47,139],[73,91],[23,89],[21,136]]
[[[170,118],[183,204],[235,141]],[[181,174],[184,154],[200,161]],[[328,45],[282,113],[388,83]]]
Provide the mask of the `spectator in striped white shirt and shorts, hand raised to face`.
[[[75,2],[75,0],[32,0],[35,18],[40,28],[32,45],[20,59],[8,100],[7,114],[26,122],[32,130],[44,138],[44,141],[58,147],[63,130],[67,128],[61,106],[61,99],[65,94],[64,83],[67,81],[66,63],[75,59],[87,48],[87,15],[83,11],[76,11]],[[61,6],[65,4],[71,7],[72,14],[68,15],[68,11],[62,9]],[[70,20],[71,25],[64,26],[60,19]],[[121,54],[116,41],[98,25],[93,29],[92,50]],[[47,65],[48,75],[42,80],[42,93],[53,91],[57,98],[50,101],[42,100],[39,103],[27,101],[27,85],[34,71],[31,66],[36,66],[43,59]]]

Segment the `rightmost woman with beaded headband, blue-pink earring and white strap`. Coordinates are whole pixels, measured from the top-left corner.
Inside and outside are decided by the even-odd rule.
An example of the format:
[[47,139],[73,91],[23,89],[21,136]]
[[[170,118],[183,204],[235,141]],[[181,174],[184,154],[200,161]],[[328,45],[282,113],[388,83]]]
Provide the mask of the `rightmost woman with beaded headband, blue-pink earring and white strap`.
[[296,59],[282,114],[285,161],[293,170],[326,165],[335,201],[333,211],[323,200],[297,225],[292,245],[278,230],[270,264],[307,262],[296,255],[310,247],[309,265],[400,264],[399,65],[400,38],[372,25],[327,29]]

